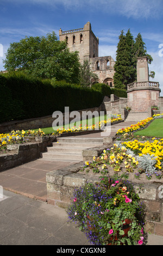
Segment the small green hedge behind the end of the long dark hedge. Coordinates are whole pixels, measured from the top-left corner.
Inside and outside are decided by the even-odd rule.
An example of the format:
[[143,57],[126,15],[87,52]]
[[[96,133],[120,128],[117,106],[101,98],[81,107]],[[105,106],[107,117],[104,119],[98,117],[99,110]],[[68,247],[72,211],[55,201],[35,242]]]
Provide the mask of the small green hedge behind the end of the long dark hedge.
[[127,97],[127,92],[124,89],[111,88],[104,83],[92,84],[93,89],[98,90],[103,96],[110,97],[110,94],[115,94],[118,97]]

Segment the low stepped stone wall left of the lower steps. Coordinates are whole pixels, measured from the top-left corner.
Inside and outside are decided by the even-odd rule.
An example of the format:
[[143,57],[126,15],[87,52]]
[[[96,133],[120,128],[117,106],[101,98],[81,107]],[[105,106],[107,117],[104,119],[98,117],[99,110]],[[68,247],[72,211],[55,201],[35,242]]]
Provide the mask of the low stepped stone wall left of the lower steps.
[[55,136],[33,137],[30,138],[29,143],[8,145],[8,154],[0,155],[0,172],[39,159],[40,154],[55,141],[57,141]]

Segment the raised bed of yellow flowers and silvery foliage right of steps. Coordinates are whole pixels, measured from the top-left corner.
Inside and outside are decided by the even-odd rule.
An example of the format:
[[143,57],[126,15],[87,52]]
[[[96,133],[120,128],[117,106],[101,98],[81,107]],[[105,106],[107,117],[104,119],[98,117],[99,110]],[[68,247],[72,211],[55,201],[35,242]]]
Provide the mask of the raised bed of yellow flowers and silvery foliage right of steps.
[[[131,143],[131,144],[130,144]],[[135,142],[128,142],[127,145],[134,144],[137,150]],[[141,145],[141,144],[140,144]],[[142,148],[143,153],[145,153],[146,148],[149,146],[147,142],[144,149]],[[163,145],[162,139],[160,141],[154,141],[151,147],[155,147],[155,155],[152,155],[152,151],[149,154],[139,153],[136,155],[137,151],[132,151],[130,147],[124,147],[123,143],[116,142],[113,147],[103,151],[102,155],[99,157],[93,157],[92,162],[85,162],[83,172],[93,172],[93,173],[108,173],[110,175],[114,173],[123,173],[124,176],[130,180],[135,179],[152,179],[153,181],[162,180],[163,172]],[[160,151],[158,151],[160,148]],[[141,147],[140,147],[141,149]],[[151,148],[152,150],[152,148]],[[142,152],[142,151],[141,151]],[[159,152],[159,153],[158,153]]]

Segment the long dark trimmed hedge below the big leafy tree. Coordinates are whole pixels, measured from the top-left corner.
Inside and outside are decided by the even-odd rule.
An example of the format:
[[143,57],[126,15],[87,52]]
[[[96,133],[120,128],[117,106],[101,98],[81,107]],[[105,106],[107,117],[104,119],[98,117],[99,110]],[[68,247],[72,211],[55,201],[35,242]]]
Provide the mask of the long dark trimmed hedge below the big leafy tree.
[[0,75],[0,123],[52,115],[54,111],[70,111],[97,107],[102,92],[66,82],[41,81],[19,72]]

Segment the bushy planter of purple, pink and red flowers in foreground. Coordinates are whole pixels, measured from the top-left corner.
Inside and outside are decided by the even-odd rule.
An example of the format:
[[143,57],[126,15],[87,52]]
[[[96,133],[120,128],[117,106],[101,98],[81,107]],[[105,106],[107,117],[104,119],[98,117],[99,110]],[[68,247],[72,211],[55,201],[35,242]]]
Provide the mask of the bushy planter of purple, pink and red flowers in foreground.
[[143,204],[127,180],[103,175],[77,188],[67,214],[93,245],[143,244]]

